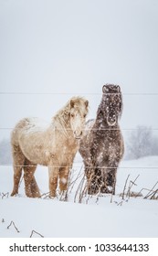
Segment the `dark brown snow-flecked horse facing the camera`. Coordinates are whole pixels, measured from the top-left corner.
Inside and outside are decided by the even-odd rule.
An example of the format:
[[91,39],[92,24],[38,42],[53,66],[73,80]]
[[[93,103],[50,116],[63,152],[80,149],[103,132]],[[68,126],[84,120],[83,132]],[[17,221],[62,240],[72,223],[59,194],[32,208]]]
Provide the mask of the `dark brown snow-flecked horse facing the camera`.
[[95,120],[86,123],[79,153],[85,165],[88,193],[115,193],[116,173],[124,144],[119,126],[122,112],[121,88],[106,84]]

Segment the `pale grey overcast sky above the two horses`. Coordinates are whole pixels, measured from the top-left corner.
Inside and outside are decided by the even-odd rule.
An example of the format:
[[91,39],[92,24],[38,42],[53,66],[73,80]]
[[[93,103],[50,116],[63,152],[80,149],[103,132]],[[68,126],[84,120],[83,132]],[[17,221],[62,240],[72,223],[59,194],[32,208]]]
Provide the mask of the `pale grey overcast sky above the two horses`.
[[121,86],[122,129],[158,128],[157,0],[0,0],[0,128],[74,95],[95,117],[105,83]]

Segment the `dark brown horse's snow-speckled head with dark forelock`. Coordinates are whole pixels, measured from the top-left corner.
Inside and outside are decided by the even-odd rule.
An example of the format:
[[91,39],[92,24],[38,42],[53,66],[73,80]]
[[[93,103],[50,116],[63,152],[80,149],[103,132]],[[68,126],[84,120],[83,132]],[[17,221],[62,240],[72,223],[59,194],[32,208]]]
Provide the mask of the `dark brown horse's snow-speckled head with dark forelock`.
[[102,101],[98,110],[98,118],[105,120],[110,126],[118,123],[122,111],[121,88],[119,85],[106,84],[102,87]]

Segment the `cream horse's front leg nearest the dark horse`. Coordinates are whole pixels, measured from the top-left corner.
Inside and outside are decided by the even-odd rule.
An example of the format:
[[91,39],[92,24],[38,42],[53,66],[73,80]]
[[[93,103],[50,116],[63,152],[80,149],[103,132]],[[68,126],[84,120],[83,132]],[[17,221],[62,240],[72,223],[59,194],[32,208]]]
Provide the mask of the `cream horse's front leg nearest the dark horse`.
[[68,188],[69,166],[63,166],[59,169],[59,190],[63,192]]

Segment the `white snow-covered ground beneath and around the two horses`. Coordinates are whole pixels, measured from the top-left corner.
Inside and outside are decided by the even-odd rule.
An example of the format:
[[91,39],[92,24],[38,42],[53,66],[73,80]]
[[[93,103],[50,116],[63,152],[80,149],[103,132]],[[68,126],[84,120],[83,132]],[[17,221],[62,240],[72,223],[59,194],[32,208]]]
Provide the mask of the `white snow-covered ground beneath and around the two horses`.
[[[84,179],[79,155],[73,165],[68,197],[47,197],[47,167],[38,166],[36,178],[41,198],[27,198],[23,180],[19,195],[10,197],[12,166],[0,166],[1,238],[29,238],[32,230],[38,233],[33,232],[33,237],[47,238],[158,237],[158,156],[122,161],[113,197],[82,194]],[[134,196],[141,192],[141,197],[133,197],[132,192]]]

